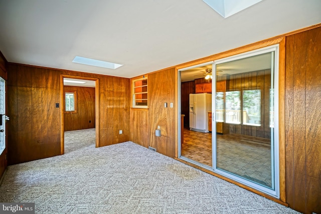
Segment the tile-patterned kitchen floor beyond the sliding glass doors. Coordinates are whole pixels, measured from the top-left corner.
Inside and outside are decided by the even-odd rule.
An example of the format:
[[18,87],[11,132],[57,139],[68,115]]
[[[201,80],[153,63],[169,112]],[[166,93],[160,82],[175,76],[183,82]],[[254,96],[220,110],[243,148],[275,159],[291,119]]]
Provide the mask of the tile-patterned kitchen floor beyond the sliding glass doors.
[[[217,134],[217,167],[271,187],[270,140],[240,134]],[[212,133],[184,129],[182,156],[212,166]]]

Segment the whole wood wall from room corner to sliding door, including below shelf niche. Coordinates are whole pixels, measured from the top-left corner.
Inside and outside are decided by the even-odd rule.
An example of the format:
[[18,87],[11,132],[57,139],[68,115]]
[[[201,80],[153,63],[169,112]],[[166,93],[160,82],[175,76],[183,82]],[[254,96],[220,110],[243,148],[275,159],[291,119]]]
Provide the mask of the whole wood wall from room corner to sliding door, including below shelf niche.
[[[175,69],[148,74],[148,109],[131,109],[130,140],[157,152],[175,157],[176,121]],[[164,103],[168,107],[164,107]],[[174,107],[170,107],[173,103]],[[161,137],[155,136],[159,126]]]

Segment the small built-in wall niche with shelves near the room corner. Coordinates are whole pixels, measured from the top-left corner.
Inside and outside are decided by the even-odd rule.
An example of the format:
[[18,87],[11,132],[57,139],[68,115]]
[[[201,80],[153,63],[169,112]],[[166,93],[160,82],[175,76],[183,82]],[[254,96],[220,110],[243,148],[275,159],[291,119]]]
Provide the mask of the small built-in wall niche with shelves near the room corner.
[[133,80],[132,82],[132,107],[147,108],[148,93],[147,93],[147,78]]

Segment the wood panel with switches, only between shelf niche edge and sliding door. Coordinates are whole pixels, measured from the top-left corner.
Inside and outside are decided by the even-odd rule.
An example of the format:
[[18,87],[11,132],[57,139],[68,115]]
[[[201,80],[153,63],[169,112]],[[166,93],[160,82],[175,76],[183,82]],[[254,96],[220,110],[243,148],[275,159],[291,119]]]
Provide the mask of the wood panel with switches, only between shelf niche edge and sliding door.
[[[175,69],[168,69],[148,75],[148,119],[149,145],[157,152],[175,157],[176,128],[175,118]],[[164,107],[164,103],[168,107]],[[161,137],[155,136],[155,130],[160,126]]]

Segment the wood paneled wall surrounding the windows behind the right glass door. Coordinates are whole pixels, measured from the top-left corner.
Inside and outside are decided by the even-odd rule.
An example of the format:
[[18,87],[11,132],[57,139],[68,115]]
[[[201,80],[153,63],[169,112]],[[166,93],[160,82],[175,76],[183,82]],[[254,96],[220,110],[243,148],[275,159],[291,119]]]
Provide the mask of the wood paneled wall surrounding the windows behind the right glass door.
[[230,75],[227,77],[226,82],[226,91],[241,91],[242,94],[243,90],[261,90],[261,126],[234,125],[227,123],[226,125],[229,126],[229,132],[270,139],[269,91],[271,88],[271,70],[268,69]]

